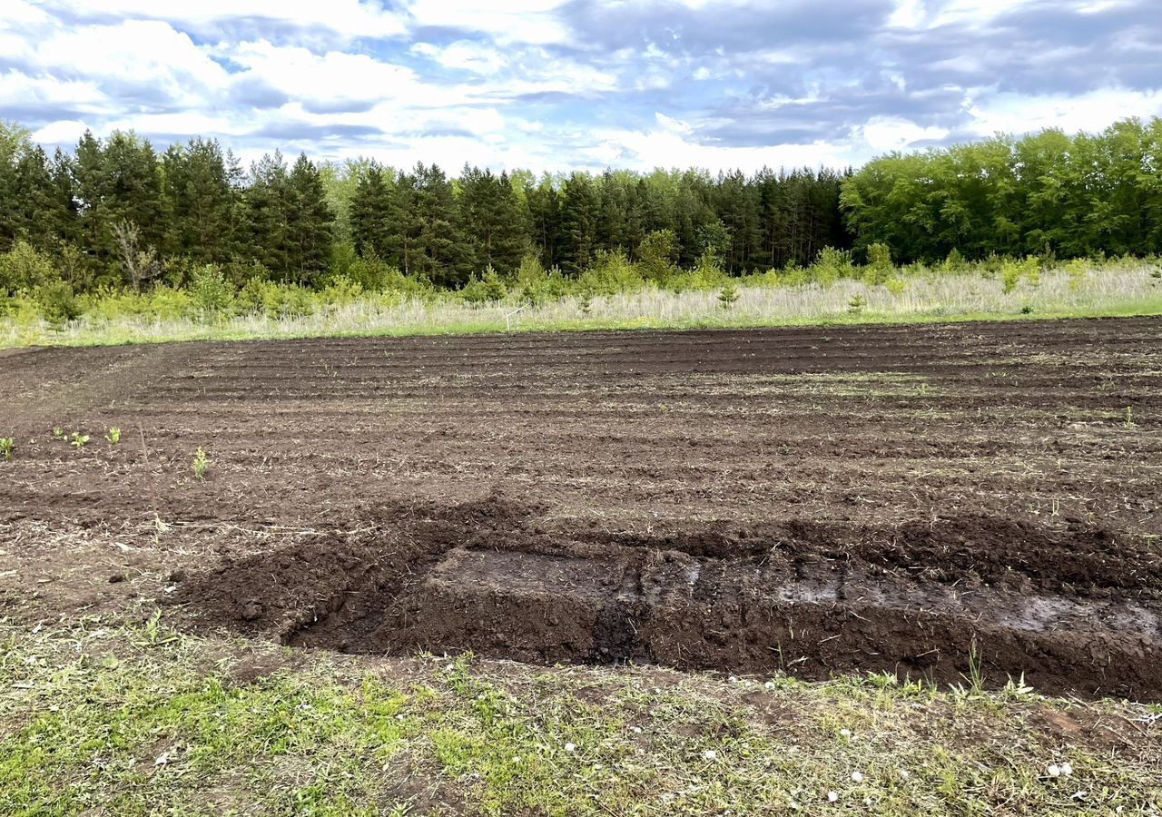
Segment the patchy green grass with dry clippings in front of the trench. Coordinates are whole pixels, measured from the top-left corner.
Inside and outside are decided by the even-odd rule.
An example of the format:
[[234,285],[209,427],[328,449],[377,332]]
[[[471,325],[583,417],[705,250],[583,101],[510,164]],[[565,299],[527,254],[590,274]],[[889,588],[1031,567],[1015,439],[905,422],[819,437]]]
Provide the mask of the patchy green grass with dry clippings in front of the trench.
[[[144,614],[143,614],[144,615]],[[5,815],[1157,814],[1157,707],[0,625]]]

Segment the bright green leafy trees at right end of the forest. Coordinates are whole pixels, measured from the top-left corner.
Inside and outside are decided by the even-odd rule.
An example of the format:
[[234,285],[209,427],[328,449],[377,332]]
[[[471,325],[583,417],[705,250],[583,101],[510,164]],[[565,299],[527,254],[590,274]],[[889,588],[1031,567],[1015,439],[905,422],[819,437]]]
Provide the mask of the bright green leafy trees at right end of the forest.
[[903,261],[1162,252],[1162,120],[890,153],[845,180],[859,255]]

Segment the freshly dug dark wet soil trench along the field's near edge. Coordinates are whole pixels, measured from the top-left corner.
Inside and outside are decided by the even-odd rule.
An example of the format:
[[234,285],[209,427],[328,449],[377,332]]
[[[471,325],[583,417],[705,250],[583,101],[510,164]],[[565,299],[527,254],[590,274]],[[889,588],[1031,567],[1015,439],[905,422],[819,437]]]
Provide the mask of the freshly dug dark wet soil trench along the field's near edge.
[[[989,686],[1024,676],[1045,693],[1162,697],[1162,605],[1141,581],[1120,586],[1134,565],[1103,535],[1042,540],[1007,529],[1009,547],[1025,536],[1048,564],[1054,547],[1075,560],[1089,549],[1089,583],[1078,586],[971,554],[997,521],[949,521],[934,540],[961,549],[925,566],[894,564],[918,556],[908,551],[883,558],[875,536],[863,550],[840,546],[868,535],[846,528],[571,537],[531,530],[519,515],[467,515],[227,558],[181,582],[177,601],[200,626],[350,653],[472,651],[804,679],[888,671],[947,683],[964,681],[975,651]],[[898,547],[901,531],[890,533],[881,538]],[[975,561],[957,567],[966,549]]]

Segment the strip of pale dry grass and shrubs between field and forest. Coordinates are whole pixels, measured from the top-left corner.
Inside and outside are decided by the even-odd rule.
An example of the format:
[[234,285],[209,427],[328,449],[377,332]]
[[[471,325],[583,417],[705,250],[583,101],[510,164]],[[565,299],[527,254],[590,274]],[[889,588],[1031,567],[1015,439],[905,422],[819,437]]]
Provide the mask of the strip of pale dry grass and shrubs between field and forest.
[[158,298],[127,296],[108,314],[86,314],[58,325],[22,301],[7,316],[0,311],[0,347],[1162,315],[1162,271],[1147,261],[1095,267],[1071,263],[1007,281],[980,270],[899,274],[885,284],[838,278],[797,285],[758,275],[740,286],[684,292],[646,286],[615,294],[571,293],[536,303],[516,294],[475,303],[456,293],[366,292],[333,300],[303,294],[306,301],[294,314],[192,314],[185,301],[177,309],[159,306]]

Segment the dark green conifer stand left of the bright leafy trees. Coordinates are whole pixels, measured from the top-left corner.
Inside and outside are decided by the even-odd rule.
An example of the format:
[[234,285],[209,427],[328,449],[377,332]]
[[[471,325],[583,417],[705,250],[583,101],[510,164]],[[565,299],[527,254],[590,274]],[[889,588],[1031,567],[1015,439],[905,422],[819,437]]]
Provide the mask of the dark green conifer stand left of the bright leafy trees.
[[86,132],[50,156],[0,124],[0,251],[48,253],[79,291],[180,282],[184,267],[205,264],[230,265],[236,280],[310,285],[352,252],[445,287],[489,267],[512,274],[530,253],[578,275],[603,252],[680,266],[709,252],[743,274],[849,246],[841,182],[830,170],[538,179],[467,165],[453,178],[423,163],[288,163],[279,152],[243,169],[214,139],[158,152],[132,132]]

